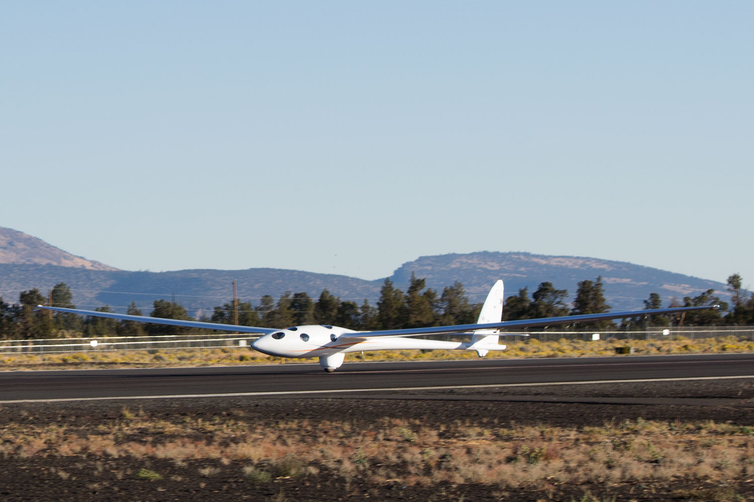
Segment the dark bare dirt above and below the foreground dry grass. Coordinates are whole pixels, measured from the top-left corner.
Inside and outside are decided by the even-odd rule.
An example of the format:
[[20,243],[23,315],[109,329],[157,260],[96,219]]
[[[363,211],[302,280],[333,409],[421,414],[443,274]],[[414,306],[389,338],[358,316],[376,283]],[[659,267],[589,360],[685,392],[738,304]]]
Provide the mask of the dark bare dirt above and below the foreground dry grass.
[[[754,427],[754,382],[749,380],[618,385],[564,385],[559,388],[507,388],[379,399],[176,399],[21,403],[0,409],[0,427],[90,427],[92,434],[123,420],[124,407],[153,420],[180,424],[188,420],[232,417],[275,427],[281,421],[348,420],[357,427],[377,427],[396,418],[440,428],[465,424],[547,424],[587,427],[605,422],[644,420],[702,422]],[[406,398],[407,397],[407,398]],[[614,397],[627,403],[600,402]],[[657,399],[654,404],[631,403]],[[581,401],[581,402],[579,402]],[[195,432],[201,437],[201,431]],[[138,438],[123,437],[123,441]],[[159,438],[155,438],[159,440]],[[6,440],[7,441],[7,440]],[[706,482],[683,473],[672,479],[612,485],[551,483],[512,490],[489,483],[406,485],[398,480],[369,482],[314,466],[295,477],[250,481],[243,465],[216,459],[176,463],[161,458],[74,455],[6,455],[0,458],[0,500],[754,500],[754,479]],[[150,479],[149,473],[161,479]]]

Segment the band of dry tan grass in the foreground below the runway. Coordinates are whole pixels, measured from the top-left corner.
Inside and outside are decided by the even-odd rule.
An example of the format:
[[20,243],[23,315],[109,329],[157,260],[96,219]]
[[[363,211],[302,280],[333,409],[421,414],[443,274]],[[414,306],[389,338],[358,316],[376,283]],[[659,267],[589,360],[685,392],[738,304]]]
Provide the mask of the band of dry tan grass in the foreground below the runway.
[[442,428],[396,418],[367,425],[306,420],[265,425],[229,417],[174,423],[124,409],[115,424],[96,431],[75,423],[5,424],[0,455],[6,461],[52,456],[103,462],[127,457],[143,465],[164,459],[179,467],[199,462],[199,468],[186,467],[187,479],[243,466],[244,477],[255,483],[316,476],[322,469],[370,482],[502,488],[754,476],[754,427],[639,419],[582,428],[466,421]]

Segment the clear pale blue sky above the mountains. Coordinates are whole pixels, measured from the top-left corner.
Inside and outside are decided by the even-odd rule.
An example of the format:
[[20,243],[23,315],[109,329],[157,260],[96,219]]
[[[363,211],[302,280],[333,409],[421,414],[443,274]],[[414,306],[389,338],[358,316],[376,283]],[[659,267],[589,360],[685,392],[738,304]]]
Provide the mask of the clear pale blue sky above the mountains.
[[11,2],[0,226],[127,270],[754,284],[752,2]]

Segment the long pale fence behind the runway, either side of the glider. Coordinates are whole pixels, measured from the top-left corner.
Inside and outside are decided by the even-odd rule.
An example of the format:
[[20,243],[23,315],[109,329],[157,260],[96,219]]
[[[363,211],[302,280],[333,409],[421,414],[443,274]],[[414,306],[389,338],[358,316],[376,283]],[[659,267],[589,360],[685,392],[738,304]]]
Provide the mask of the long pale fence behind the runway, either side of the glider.
[[[526,336],[524,336],[526,335]],[[668,327],[647,331],[528,331],[507,333],[504,343],[526,343],[532,339],[540,342],[590,341],[596,339],[661,340],[704,339],[719,336],[736,336],[754,340],[754,327]],[[205,348],[249,348],[257,336],[244,334],[207,334],[178,336],[118,336],[108,338],[60,338],[35,340],[0,340],[0,354],[100,354],[112,351],[170,351]]]

